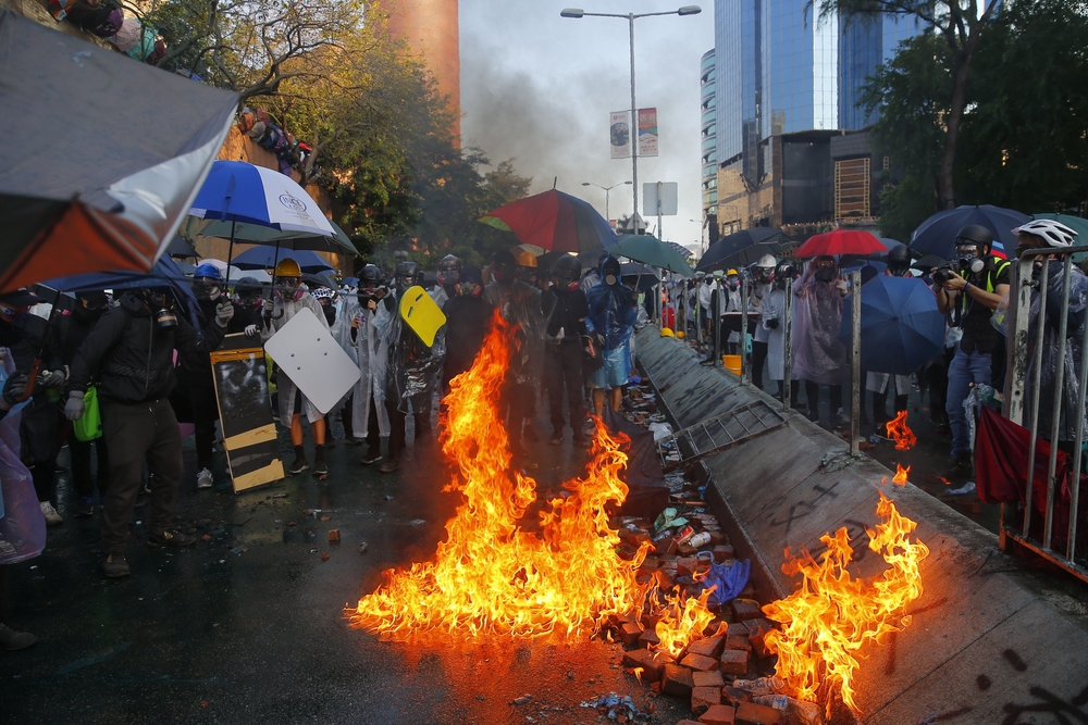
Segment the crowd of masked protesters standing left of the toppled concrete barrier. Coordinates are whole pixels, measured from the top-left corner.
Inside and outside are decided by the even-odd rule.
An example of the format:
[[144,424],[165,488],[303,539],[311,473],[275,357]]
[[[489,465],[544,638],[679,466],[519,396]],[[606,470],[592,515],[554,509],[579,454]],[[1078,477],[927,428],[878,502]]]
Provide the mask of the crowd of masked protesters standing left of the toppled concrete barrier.
[[[425,284],[416,262],[400,261],[392,270],[367,264],[351,286],[331,277],[327,284],[304,280],[289,258],[273,272],[272,286],[243,277],[228,288],[215,266],[201,264],[193,274],[191,310],[174,288],[150,277],[146,287],[116,295],[39,297],[21,289],[0,296],[0,354],[7,370],[0,413],[17,411],[20,434],[17,441],[3,442],[15,449],[33,478],[46,525],[61,526],[65,516],[100,516],[107,577],[131,574],[125,551],[138,501],[148,505],[138,516],[146,546],[195,543],[172,525],[174,505],[182,487],[217,484],[219,402],[210,353],[227,335],[246,336],[259,347],[309,310],[358,365],[355,386],[324,412],[282,371],[272,373],[272,412],[294,449],[285,471],[310,471],[323,479],[336,418],[345,442],[360,447],[359,463],[378,464],[384,474],[404,462],[409,416],[417,443],[433,438],[433,401],[471,366],[495,311],[510,323],[510,363],[499,405],[511,452],[526,455],[526,443],[539,438],[534,420],[544,404],[552,423],[547,442],[560,445],[570,428],[573,445],[588,448],[592,423],[586,413],[599,414],[606,401],[619,409],[633,370],[632,330],[640,320],[646,322],[639,293],[623,284],[619,262],[605,253],[590,270],[573,255],[560,255],[551,268],[511,251],[497,253],[483,268],[446,257],[428,289],[445,315],[432,345],[398,313],[409,288]],[[89,389],[102,435],[85,441],[74,435],[74,424],[84,420]],[[182,423],[193,425],[193,482],[183,480]],[[58,459],[65,446],[71,497],[60,501],[57,475],[64,468]],[[5,574],[14,561],[18,558],[0,550],[0,648],[7,649],[36,641],[9,625]]]

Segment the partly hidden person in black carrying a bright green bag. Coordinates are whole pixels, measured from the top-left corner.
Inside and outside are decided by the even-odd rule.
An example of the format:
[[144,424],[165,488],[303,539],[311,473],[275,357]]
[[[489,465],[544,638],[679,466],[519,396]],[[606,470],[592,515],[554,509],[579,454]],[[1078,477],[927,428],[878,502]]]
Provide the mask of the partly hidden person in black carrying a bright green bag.
[[[71,312],[65,312],[57,317],[54,325],[57,330],[57,343],[60,347],[61,359],[67,368],[72,367],[75,353],[79,351],[83,341],[87,339],[90,330],[95,328],[98,320],[106,314],[110,308],[110,298],[103,291],[77,292],[75,304]],[[99,436],[95,440],[79,440],[73,430],[67,434],[69,458],[72,470],[72,488],[78,499],[75,509],[77,518],[85,518],[95,513],[95,485],[97,482],[98,492],[106,501],[106,485],[109,483],[110,459],[106,450],[106,437]],[[97,478],[90,473],[90,451],[95,449],[98,459]]]

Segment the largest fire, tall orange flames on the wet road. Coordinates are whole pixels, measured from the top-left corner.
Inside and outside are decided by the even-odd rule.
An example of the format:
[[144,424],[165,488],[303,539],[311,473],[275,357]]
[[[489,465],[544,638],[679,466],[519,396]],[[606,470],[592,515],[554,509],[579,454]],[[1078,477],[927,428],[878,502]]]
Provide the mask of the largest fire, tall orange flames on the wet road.
[[355,626],[390,638],[441,628],[572,639],[597,632],[609,615],[641,610],[651,592],[635,582],[650,542],[631,561],[616,552],[620,539],[605,507],[628,493],[618,476],[627,439],[599,420],[586,475],[564,484],[566,498],[542,507],[539,534],[523,526],[536,482],[511,471],[494,395],[512,338],[496,314],[472,368],[450,382],[440,440],[459,470],[445,490],[461,493],[463,502],[446,523],[446,540],[433,561],[385,572],[384,586],[349,610]]

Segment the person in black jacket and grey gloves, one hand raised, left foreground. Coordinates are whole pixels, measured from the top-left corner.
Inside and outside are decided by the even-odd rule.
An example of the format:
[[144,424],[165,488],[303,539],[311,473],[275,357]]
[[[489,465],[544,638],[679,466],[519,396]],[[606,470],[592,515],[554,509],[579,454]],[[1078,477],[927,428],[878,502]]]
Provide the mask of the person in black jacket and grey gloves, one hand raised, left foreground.
[[168,399],[175,382],[174,350],[195,368],[197,353],[217,349],[233,317],[234,307],[221,301],[201,335],[184,316],[174,314],[169,288],[128,291],[119,307],[102,315],[75,355],[64,413],[70,421],[83,417],[84,393],[97,380],[110,450],[110,484],[102,512],[102,570],[108,577],[131,573],[125,539],[145,461],[156,474],[147,546],[186,547],[196,541],[169,530],[182,478],[182,435]]

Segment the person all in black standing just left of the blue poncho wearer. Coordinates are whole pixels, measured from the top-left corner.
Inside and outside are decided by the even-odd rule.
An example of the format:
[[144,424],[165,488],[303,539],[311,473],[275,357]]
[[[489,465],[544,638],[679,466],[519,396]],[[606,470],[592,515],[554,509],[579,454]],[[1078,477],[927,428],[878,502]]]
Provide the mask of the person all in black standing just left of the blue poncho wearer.
[[589,440],[582,429],[585,423],[585,407],[582,402],[582,338],[588,335],[585,317],[590,314],[585,292],[579,285],[582,265],[577,257],[560,258],[552,270],[552,287],[544,292],[544,309],[551,309],[544,348],[544,379],[547,387],[548,409],[552,414],[552,437],[548,443],[558,446],[562,441],[564,385],[567,391],[567,409],[570,412],[570,428],[574,434],[574,445],[585,448]]

